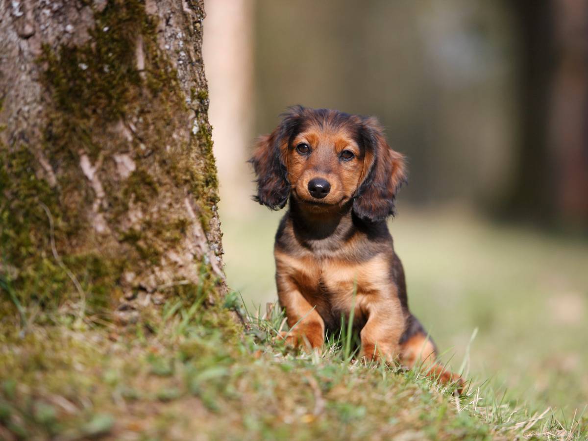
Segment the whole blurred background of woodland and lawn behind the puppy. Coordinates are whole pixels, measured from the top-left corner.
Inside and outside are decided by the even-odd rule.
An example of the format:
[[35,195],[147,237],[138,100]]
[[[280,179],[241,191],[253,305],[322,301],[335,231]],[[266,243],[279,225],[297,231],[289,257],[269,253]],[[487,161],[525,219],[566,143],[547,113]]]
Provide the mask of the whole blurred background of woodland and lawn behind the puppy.
[[[390,221],[409,302],[454,368],[588,403],[588,2],[207,0],[226,274],[276,299],[282,213],[245,163],[287,106],[375,115],[409,159]],[[470,337],[477,335],[468,349]],[[467,356],[469,354],[469,357]]]

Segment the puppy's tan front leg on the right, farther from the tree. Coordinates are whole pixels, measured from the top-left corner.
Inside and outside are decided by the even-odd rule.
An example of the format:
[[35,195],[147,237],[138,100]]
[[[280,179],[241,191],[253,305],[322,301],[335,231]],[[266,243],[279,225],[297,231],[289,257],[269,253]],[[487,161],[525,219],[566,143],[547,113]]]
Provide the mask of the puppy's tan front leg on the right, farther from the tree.
[[400,301],[370,302],[365,306],[368,321],[360,333],[361,355],[367,360],[392,362],[398,358],[399,340],[405,327]]

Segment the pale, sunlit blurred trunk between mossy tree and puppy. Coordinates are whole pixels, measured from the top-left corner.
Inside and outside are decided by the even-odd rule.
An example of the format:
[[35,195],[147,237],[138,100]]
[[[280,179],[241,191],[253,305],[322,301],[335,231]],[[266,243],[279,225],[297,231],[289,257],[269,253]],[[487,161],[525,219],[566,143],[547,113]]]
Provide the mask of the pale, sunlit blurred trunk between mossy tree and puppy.
[[206,59],[215,128],[215,158],[220,182],[220,212],[243,213],[256,209],[251,203],[253,177],[247,163],[253,143],[253,2],[207,0]]

